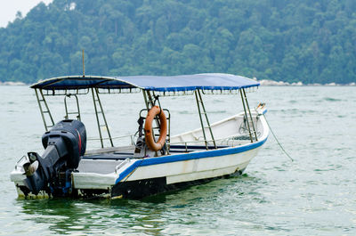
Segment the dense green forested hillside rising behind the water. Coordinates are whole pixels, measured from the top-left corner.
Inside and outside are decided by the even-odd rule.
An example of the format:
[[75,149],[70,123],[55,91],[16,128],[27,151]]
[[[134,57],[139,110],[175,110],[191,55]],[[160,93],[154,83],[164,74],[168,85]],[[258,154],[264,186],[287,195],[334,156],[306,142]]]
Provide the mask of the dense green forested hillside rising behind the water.
[[0,28],[0,82],[237,74],[356,82],[354,0],[53,0]]

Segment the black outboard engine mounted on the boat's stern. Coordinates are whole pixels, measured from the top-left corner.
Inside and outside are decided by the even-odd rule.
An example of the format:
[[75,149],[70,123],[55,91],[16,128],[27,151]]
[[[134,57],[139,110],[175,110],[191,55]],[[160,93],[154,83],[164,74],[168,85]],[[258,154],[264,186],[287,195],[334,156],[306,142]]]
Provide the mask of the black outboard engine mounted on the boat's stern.
[[47,191],[53,195],[66,195],[71,187],[70,174],[85,154],[85,126],[78,120],[62,120],[42,136],[44,153],[28,152],[25,185],[37,194]]

